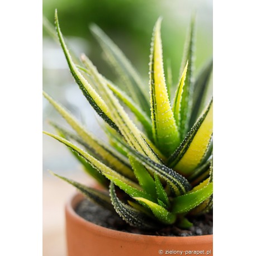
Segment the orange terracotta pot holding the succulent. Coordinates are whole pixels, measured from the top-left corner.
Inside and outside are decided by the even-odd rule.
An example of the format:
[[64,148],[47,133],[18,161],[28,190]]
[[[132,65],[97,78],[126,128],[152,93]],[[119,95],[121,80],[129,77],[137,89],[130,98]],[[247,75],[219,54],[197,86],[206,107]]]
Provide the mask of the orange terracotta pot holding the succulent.
[[[82,199],[83,196],[77,193],[65,207],[69,256],[212,255],[212,235],[138,235],[107,229],[86,221],[74,211]],[[182,254],[177,251],[182,251]]]

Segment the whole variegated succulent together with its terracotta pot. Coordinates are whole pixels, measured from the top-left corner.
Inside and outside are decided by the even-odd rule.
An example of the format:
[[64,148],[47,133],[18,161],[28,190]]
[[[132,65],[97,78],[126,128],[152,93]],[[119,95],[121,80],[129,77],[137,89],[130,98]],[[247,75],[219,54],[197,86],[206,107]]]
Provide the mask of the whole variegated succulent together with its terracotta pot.
[[[93,35],[122,83],[118,87],[99,74],[84,54],[78,63],[67,48],[55,12],[56,31],[70,72],[103,119],[110,141],[106,144],[91,134],[44,92],[75,134],[53,122],[58,135],[44,133],[66,145],[100,185],[90,188],[53,173],[80,191],[65,208],[69,256],[212,255],[211,231],[184,237],[195,231],[198,222],[203,225],[212,208],[213,192],[212,99],[203,106],[212,60],[193,82],[194,20],[181,78],[172,94],[172,85],[165,83],[161,20],[157,21],[151,42],[148,93],[124,54],[96,25],[91,27]],[[84,208],[85,212],[93,208],[91,217],[105,218],[108,228],[88,221],[88,216],[83,219]]]

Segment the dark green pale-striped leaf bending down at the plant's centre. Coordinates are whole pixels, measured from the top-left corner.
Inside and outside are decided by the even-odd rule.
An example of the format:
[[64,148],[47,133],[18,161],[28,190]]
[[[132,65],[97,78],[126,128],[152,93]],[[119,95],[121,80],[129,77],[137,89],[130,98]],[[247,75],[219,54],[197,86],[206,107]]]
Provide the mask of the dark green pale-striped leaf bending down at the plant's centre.
[[[121,141],[119,142],[121,143]],[[138,159],[146,167],[146,169],[151,170],[153,173],[157,173],[158,176],[170,184],[171,194],[173,196],[183,195],[191,188],[187,179],[174,170],[166,167],[163,164],[154,162],[153,160],[140,154],[138,151],[130,148],[126,144],[122,145],[124,146],[127,153]]]

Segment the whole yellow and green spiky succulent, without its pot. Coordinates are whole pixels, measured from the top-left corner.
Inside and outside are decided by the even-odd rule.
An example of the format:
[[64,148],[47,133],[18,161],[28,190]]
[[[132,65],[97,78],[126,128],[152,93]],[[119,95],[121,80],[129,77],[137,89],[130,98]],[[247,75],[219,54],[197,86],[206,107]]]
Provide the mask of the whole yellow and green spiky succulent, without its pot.
[[157,230],[162,225],[187,228],[192,226],[188,215],[205,214],[212,208],[212,99],[203,106],[212,60],[194,81],[194,20],[184,49],[181,78],[172,93],[173,83],[166,83],[164,77],[160,19],[153,31],[147,89],[130,61],[96,25],[91,26],[92,34],[118,74],[119,85],[99,74],[86,55],[77,61],[68,50],[55,12],[58,40],[70,72],[103,119],[110,143],[91,134],[44,92],[75,131],[51,123],[58,135],[44,133],[68,146],[106,191],[53,174],[139,229]]

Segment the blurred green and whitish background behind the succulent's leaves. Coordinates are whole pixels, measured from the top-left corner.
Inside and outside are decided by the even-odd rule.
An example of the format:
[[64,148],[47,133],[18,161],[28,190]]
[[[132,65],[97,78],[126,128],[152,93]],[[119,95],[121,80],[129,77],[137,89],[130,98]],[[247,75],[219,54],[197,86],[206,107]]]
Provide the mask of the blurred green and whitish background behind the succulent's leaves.
[[[171,61],[173,82],[177,83],[184,40],[189,21],[196,12],[196,73],[212,56],[212,0],[44,0],[43,14],[54,23],[58,9],[61,31],[72,50],[86,53],[99,72],[115,82],[115,75],[102,59],[102,51],[89,32],[96,23],[124,51],[148,84],[151,33],[159,16],[162,21],[164,62]],[[97,118],[75,86],[60,46],[43,32],[43,86],[46,92],[68,107],[94,134],[102,136]],[[65,124],[45,100],[43,128],[53,131],[46,120]],[[74,170],[77,163],[63,145],[43,140],[43,169]],[[76,165],[75,165],[76,164]]]

